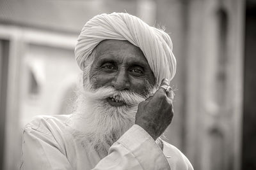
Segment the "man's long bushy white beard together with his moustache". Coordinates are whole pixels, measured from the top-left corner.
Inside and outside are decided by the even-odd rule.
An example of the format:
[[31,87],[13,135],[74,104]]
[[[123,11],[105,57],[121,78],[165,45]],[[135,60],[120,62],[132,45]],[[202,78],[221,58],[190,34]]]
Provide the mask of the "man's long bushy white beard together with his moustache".
[[[108,155],[110,146],[134,125],[138,104],[145,101],[145,97],[111,87],[93,90],[90,82],[81,89],[70,118],[74,136],[89,152],[95,150],[102,158]],[[111,106],[106,98],[113,96],[120,96],[127,105]]]

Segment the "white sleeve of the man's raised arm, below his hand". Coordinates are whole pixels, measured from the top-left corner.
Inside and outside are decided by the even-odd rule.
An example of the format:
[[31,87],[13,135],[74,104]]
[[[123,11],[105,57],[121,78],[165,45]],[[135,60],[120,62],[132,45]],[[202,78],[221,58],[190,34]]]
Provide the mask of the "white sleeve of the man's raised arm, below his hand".
[[109,154],[94,168],[100,169],[170,169],[154,139],[139,125],[133,125],[109,148]]

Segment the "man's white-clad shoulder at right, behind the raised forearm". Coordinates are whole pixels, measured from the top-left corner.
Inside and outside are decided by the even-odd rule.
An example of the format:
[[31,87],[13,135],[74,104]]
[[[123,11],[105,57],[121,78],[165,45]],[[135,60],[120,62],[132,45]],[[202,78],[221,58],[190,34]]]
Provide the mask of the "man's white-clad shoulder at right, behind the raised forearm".
[[188,158],[178,148],[163,141],[163,152],[168,160],[171,169],[193,170]]

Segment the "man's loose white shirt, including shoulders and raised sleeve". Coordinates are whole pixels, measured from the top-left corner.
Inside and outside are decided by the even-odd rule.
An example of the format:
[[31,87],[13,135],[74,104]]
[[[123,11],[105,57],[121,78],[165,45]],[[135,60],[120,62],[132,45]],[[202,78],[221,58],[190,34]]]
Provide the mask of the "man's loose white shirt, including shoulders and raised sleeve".
[[172,169],[191,170],[189,160],[163,141],[163,151],[139,125],[133,125],[100,159],[72,136],[70,115],[36,117],[24,128],[20,169]]

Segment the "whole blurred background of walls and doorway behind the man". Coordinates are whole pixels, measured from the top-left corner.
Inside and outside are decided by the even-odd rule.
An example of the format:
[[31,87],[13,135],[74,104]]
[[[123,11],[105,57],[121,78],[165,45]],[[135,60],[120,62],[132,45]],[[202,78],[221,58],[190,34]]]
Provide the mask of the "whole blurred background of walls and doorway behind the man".
[[173,40],[166,140],[195,169],[256,169],[256,0],[0,0],[0,169],[19,169],[31,118],[70,114],[77,36],[113,11],[163,25]]

